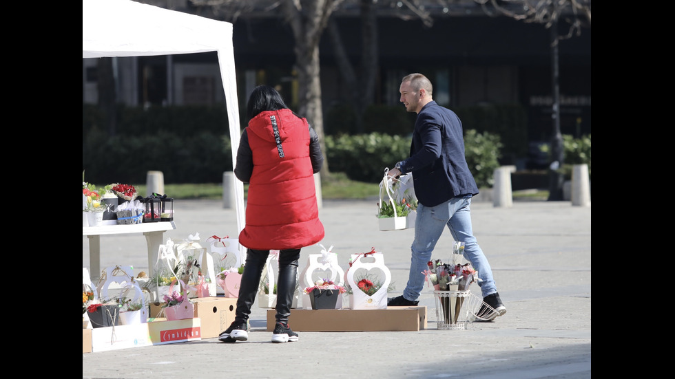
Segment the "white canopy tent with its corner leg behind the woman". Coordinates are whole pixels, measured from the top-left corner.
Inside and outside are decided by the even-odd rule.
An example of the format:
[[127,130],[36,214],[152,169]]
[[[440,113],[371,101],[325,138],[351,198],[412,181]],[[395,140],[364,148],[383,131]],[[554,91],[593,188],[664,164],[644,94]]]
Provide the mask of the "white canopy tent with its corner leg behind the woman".
[[[231,23],[131,0],[82,0],[82,58],[218,52],[234,163],[240,127],[232,30]],[[245,225],[244,186],[234,175],[232,180],[239,235]]]

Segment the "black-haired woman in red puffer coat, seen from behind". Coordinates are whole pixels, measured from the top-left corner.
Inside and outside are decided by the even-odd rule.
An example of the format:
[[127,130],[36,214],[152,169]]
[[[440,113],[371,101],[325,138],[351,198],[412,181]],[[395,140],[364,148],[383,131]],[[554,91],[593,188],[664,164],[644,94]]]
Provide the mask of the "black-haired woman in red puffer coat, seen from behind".
[[218,339],[227,343],[248,339],[247,321],[262,269],[269,250],[280,250],[272,342],[297,341],[288,321],[300,248],[324,237],[313,176],[324,158],[314,129],[272,87],[253,89],[247,117],[249,126],[242,133],[234,169],[239,180],[249,183],[246,226],[239,234],[239,243],[247,248],[246,263],[235,319]]

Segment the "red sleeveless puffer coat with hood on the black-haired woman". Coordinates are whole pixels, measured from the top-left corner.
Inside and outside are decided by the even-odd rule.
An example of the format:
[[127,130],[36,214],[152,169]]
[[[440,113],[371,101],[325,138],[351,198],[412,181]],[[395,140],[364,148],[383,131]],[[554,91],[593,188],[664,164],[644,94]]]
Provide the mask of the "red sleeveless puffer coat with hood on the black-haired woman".
[[[273,122],[278,127],[280,146]],[[249,121],[253,155],[242,246],[255,250],[303,248],[321,241],[309,156],[309,124],[290,109],[263,111]],[[282,157],[280,155],[283,155]]]

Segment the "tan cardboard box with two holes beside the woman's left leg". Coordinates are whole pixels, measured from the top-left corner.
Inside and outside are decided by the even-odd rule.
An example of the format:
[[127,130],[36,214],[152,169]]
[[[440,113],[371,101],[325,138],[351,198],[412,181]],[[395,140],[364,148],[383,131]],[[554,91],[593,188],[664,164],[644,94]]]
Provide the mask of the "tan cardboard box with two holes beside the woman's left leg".
[[236,297],[197,297],[194,302],[194,316],[200,318],[202,338],[215,338],[234,321],[237,309]]

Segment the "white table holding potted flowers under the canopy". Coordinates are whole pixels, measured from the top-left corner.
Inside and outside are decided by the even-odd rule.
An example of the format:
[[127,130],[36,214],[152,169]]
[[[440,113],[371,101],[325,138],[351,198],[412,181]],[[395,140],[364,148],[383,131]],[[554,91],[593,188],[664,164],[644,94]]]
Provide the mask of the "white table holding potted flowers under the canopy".
[[[101,274],[101,236],[143,233],[147,241],[147,268],[153,274],[153,262],[157,259],[164,232],[176,229],[174,221],[144,222],[143,224],[83,226],[82,235],[89,237],[89,266],[92,275]],[[93,279],[92,279],[93,280]]]

